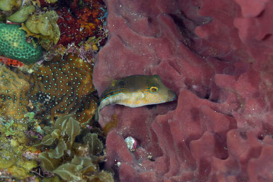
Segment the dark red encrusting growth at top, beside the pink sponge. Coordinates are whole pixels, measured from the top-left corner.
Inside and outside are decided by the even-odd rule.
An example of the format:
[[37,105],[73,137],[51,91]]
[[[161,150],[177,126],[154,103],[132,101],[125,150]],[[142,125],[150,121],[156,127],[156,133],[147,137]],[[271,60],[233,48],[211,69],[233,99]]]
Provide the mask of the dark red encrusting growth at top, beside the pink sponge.
[[88,37],[94,36],[103,24],[104,4],[101,1],[74,0],[69,9],[62,7],[57,10],[60,16],[57,23],[61,36],[58,44],[66,46],[68,43],[76,45]]

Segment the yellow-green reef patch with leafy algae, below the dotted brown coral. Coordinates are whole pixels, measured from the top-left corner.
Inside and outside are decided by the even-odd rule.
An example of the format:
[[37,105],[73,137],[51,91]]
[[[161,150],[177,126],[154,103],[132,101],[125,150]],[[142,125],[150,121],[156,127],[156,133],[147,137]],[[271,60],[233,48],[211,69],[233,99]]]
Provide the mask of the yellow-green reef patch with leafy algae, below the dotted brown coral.
[[59,117],[53,126],[44,127],[41,140],[33,131],[37,129],[34,113],[26,116],[21,120],[0,117],[1,181],[114,181],[112,172],[100,167],[105,137],[95,123],[87,129],[72,114]]

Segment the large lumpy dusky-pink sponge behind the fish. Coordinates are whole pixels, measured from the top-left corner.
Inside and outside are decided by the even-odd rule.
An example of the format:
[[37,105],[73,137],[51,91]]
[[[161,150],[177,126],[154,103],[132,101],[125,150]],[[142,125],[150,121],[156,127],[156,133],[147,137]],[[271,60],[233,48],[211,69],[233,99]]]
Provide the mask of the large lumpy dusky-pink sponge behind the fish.
[[[110,105],[106,168],[119,181],[273,181],[273,3],[106,0],[109,37],[94,68],[158,74],[178,95],[153,107]],[[125,138],[136,140],[134,151]]]

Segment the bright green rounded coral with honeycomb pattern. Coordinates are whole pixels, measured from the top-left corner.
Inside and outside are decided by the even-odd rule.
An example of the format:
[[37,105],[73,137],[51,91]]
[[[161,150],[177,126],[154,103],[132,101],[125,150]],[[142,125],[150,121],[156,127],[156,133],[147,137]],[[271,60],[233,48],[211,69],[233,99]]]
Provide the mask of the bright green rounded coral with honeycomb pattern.
[[19,60],[24,64],[33,64],[42,56],[42,49],[26,41],[24,30],[19,25],[0,23],[0,55]]

